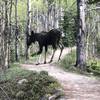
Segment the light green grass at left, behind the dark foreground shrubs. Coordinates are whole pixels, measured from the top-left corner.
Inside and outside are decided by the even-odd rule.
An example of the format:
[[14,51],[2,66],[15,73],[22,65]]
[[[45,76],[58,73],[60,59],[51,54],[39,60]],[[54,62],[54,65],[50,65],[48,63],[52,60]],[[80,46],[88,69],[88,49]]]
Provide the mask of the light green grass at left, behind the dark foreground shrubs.
[[12,80],[18,77],[26,77],[31,74],[32,71],[24,70],[19,64],[12,64],[5,72],[0,72],[0,81]]

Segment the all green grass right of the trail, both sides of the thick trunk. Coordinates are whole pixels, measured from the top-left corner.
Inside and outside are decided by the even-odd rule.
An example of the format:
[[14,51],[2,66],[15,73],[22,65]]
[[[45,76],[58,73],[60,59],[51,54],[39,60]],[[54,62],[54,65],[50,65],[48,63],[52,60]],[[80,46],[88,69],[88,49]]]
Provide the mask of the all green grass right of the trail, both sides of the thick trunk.
[[82,71],[77,67],[74,67],[76,62],[76,51],[73,50],[67,54],[58,65],[65,71],[75,72],[78,74],[90,75],[91,73],[95,76],[100,76],[100,59],[92,59],[87,61],[86,71]]

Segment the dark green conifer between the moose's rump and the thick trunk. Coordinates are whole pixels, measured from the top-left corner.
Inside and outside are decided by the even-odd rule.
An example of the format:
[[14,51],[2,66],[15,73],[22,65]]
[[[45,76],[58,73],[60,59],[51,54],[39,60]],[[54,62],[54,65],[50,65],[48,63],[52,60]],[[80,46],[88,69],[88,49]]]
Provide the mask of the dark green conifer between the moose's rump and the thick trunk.
[[76,38],[76,9],[72,7],[65,11],[64,20],[62,21],[64,31],[63,43],[65,46],[75,45]]

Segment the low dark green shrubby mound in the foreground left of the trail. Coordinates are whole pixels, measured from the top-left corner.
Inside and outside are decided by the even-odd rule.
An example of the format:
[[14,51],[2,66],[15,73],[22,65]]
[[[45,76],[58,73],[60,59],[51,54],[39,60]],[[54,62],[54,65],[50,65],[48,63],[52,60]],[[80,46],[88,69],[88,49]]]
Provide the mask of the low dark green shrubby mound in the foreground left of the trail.
[[[30,72],[15,66],[15,68],[10,68],[8,72],[13,77],[0,83],[0,87],[6,91],[11,100],[40,100],[44,96],[54,94],[56,89],[60,87],[58,82],[45,71],[40,73]],[[22,79],[27,81],[19,84],[19,80]],[[2,91],[0,91],[0,100],[7,99],[3,95]]]

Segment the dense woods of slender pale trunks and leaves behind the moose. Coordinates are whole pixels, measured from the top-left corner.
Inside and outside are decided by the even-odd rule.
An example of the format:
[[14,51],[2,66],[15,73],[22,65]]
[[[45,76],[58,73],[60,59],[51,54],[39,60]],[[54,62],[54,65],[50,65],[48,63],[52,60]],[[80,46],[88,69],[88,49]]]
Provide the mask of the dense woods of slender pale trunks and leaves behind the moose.
[[[99,0],[1,0],[0,68],[28,58],[27,38],[31,30],[59,28],[63,44],[76,46],[76,66],[84,69],[90,60],[99,60]],[[29,55],[34,52],[30,48]],[[85,67],[84,67],[85,66]]]

